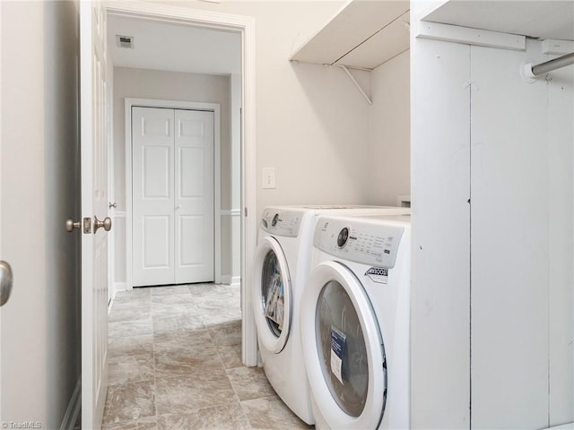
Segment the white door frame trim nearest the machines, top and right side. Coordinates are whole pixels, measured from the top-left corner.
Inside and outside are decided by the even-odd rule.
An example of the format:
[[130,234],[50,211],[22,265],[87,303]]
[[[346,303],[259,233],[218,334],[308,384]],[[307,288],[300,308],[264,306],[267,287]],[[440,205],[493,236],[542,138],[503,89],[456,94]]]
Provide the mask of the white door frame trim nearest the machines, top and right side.
[[245,366],[257,366],[257,329],[251,303],[253,273],[250,270],[257,244],[255,18],[126,0],[109,1],[105,6],[108,13],[230,30],[241,35],[241,357]]

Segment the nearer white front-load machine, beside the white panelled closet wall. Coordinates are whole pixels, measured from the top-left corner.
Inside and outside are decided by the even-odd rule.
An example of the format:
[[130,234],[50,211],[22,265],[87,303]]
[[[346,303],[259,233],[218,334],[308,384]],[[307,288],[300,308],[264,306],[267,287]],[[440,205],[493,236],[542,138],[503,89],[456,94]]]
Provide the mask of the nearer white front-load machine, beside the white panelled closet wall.
[[318,429],[410,427],[410,216],[317,220],[300,302]]

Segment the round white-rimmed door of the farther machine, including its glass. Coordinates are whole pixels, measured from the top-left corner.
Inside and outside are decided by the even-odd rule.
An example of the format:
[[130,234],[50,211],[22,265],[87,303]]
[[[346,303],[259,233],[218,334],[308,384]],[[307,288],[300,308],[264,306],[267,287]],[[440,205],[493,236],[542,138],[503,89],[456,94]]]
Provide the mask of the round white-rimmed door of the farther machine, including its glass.
[[272,236],[257,246],[253,278],[257,336],[268,351],[279,353],[291,328],[291,277],[283,249]]

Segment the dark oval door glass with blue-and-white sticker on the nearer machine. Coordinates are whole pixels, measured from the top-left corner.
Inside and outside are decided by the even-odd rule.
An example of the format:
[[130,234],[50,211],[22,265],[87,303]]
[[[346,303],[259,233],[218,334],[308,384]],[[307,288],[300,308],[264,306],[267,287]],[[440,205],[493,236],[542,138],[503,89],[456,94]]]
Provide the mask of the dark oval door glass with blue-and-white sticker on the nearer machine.
[[352,300],[336,280],[322,288],[315,317],[317,351],[326,385],[345,413],[359,417],[369,388],[367,347]]

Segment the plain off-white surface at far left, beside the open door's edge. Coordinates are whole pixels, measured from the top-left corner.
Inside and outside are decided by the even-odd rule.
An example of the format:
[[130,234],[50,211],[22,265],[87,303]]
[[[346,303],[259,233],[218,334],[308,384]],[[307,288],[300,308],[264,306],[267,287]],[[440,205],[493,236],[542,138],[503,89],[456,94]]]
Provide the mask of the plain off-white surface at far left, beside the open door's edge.
[[2,2],[2,259],[14,285],[2,318],[3,422],[59,428],[80,378],[74,2]]

